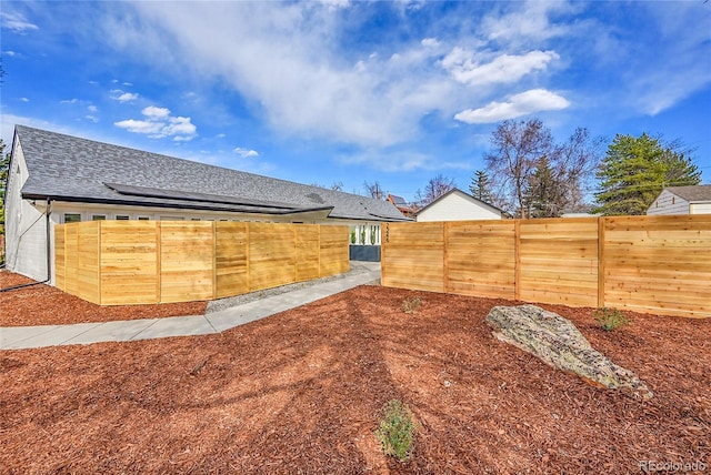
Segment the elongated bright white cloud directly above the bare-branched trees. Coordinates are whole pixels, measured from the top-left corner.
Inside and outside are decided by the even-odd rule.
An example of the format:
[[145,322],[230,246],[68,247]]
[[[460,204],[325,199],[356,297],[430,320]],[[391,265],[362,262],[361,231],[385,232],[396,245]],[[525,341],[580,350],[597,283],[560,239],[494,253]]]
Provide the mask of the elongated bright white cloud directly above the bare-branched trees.
[[467,109],[454,115],[465,123],[493,123],[535,112],[567,109],[570,102],[562,95],[544,89],[532,89],[509,98],[505,102],[491,102],[480,109]]

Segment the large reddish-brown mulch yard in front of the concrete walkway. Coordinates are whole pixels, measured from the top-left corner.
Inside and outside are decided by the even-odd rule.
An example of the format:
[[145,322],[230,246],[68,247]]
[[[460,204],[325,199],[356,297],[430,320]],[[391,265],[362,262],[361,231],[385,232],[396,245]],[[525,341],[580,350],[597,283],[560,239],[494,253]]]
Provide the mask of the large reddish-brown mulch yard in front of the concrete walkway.
[[[647,382],[639,402],[495,341],[483,319],[507,303],[361,286],[220,335],[3,351],[0,472],[711,471],[711,321],[608,333],[545,306]],[[417,420],[407,463],[374,436],[391,398]]]

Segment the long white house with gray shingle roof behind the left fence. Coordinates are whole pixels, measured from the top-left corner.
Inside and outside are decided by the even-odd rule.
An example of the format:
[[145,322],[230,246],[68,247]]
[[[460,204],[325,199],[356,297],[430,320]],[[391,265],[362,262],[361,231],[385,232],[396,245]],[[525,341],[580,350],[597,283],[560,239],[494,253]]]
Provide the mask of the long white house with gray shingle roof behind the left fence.
[[52,271],[53,225],[92,220],[354,228],[407,219],[383,200],[16,127],[6,196],[7,269],[44,281]]

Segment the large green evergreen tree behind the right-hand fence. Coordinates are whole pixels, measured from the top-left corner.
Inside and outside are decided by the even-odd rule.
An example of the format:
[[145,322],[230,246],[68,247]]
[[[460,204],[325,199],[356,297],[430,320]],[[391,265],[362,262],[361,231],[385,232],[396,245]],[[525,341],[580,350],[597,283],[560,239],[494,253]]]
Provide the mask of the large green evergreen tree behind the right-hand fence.
[[701,172],[680,142],[642,133],[615,135],[597,173],[595,213],[645,214],[664,186],[699,184]]

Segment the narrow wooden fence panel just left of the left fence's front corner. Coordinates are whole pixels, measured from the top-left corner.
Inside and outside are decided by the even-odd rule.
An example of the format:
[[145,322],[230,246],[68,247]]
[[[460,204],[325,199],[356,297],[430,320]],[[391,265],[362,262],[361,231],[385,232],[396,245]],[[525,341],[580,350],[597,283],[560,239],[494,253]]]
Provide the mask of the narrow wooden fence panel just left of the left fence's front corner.
[[99,281],[99,221],[78,223],[77,284],[78,295],[91,303],[101,303]]

